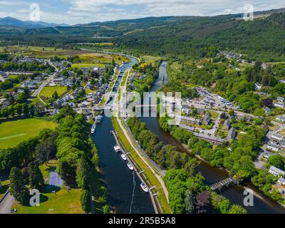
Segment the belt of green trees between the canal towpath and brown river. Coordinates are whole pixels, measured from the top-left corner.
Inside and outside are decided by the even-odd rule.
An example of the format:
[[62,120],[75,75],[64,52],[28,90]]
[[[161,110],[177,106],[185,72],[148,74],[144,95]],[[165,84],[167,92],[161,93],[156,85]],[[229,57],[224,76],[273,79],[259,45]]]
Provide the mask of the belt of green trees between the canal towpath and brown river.
[[[129,118],[127,123],[140,147],[157,165],[167,170],[164,181],[173,213],[247,212],[238,205],[231,205],[228,199],[215,194],[204,184],[204,177],[197,172],[198,160],[177,152],[172,145],[164,145],[138,118]],[[190,133],[177,130],[176,135],[187,140]]]

